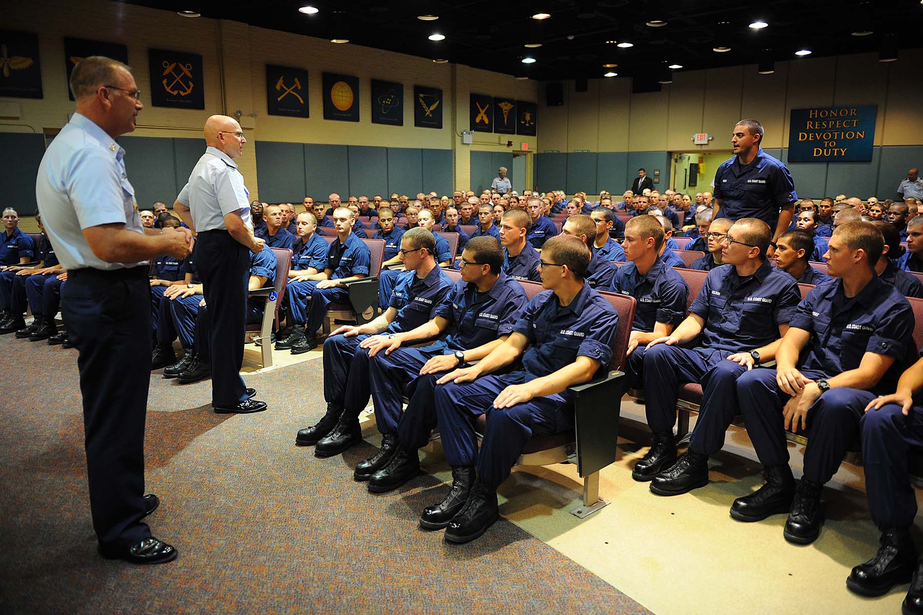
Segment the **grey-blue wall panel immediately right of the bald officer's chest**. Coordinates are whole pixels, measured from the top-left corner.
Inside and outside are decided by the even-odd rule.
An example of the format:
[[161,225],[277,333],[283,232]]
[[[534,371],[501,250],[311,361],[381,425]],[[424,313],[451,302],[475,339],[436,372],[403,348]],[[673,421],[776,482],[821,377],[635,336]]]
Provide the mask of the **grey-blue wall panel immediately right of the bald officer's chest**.
[[[259,200],[301,203],[306,194],[313,195],[305,193],[305,167],[305,149],[301,143],[257,141]],[[245,176],[245,183],[246,180]],[[250,200],[255,196],[251,195]],[[327,195],[321,200],[327,200]]]

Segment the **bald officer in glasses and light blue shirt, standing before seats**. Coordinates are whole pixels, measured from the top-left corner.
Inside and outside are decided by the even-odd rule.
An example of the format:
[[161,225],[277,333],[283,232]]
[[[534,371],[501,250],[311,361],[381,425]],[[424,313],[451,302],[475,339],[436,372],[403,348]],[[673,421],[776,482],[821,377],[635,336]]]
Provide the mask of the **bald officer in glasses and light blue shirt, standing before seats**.
[[253,235],[250,193],[234,162],[244,153],[246,138],[234,118],[212,115],[205,123],[205,142],[208,147],[177,197],[175,211],[198,231],[197,266],[211,316],[211,405],[220,414],[261,412],[266,403],[253,399],[256,391],[240,377],[248,251],[259,254],[265,243]]

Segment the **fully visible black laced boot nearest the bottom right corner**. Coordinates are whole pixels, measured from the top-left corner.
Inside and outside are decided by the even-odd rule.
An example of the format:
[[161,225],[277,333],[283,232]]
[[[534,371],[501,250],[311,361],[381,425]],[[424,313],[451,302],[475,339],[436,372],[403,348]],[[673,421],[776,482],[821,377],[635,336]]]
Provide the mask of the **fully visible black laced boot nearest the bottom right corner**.
[[883,596],[893,585],[909,583],[917,570],[917,548],[906,527],[881,534],[880,547],[868,562],[846,577],[846,587],[861,596]]

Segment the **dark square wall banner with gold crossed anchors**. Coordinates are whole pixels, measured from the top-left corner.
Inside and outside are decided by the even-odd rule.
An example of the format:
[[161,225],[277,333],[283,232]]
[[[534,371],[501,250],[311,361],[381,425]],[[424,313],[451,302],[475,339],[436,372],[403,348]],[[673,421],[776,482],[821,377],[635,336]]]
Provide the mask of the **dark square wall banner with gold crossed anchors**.
[[149,49],[148,63],[153,106],[205,109],[201,55]]

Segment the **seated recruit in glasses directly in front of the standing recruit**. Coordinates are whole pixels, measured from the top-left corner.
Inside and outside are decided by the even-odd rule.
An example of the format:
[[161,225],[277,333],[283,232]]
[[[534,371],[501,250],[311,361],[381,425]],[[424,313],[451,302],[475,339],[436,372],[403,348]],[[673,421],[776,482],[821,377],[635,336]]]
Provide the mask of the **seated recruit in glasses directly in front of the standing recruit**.
[[[644,384],[653,432],[651,450],[635,464],[632,478],[651,480],[677,458],[677,386],[701,383],[701,410],[690,447],[710,455],[724,444],[734,420],[734,383],[747,370],[750,351],[764,360],[773,357],[801,295],[794,278],[766,261],[770,232],[759,219],[737,220],[725,237],[726,265],[708,272],[686,320],[669,336],[631,353],[629,373],[638,374],[634,377]],[[689,344],[694,346],[684,347]]]

